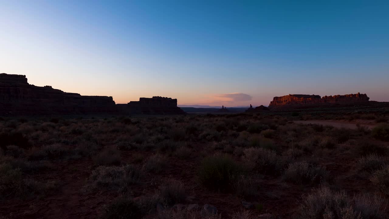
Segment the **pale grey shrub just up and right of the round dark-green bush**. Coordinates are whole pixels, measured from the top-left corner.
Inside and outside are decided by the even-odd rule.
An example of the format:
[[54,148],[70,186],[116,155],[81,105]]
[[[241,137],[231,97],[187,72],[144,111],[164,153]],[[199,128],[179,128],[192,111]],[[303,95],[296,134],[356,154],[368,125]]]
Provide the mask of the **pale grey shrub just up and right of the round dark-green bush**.
[[243,153],[242,159],[259,173],[279,172],[279,157],[274,151],[266,148],[246,148]]

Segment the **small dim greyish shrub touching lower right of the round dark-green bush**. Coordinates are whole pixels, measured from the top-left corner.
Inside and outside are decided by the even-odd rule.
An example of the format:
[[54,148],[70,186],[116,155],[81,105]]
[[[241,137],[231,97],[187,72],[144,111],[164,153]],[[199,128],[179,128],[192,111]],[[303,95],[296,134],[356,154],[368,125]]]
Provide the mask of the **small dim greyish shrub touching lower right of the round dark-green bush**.
[[231,189],[242,198],[253,197],[258,194],[257,184],[248,175],[234,176]]

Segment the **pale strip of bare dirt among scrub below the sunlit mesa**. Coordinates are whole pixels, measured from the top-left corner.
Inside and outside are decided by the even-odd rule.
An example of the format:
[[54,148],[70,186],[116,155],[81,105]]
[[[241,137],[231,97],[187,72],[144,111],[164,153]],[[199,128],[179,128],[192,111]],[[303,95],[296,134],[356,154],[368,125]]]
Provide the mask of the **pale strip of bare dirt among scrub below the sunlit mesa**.
[[345,128],[345,129],[357,129],[357,125],[367,127],[368,129],[373,129],[375,127],[374,121],[371,120],[296,120],[293,121],[298,124],[317,124],[317,125],[331,125],[335,128]]

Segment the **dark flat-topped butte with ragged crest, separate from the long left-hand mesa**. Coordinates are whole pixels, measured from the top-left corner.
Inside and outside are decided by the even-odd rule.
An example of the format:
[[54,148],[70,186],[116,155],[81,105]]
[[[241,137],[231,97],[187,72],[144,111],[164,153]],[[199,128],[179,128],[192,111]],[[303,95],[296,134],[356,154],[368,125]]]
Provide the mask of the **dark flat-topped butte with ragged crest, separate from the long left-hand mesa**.
[[117,104],[117,106],[119,111],[125,114],[185,114],[181,108],[177,107],[177,99],[168,97],[141,97],[139,101],[130,101],[128,104]]

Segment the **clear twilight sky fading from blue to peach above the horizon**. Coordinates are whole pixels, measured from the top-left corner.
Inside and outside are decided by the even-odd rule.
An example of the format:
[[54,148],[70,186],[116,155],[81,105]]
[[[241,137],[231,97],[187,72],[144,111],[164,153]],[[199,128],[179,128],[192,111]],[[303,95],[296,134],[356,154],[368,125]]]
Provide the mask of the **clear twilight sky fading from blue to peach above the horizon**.
[[0,73],[116,103],[389,101],[389,2],[0,0]]

